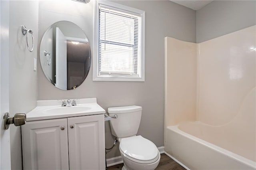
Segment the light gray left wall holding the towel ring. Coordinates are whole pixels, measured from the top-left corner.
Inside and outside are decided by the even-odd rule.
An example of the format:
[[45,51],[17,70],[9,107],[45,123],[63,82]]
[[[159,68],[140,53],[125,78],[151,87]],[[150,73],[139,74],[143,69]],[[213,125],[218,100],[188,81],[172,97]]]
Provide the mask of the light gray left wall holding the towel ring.
[[[33,58],[37,58],[37,45],[32,53],[28,51],[21,26],[34,30],[37,42],[38,1],[10,1],[9,24],[9,94],[10,115],[13,116],[15,113],[27,113],[36,106],[37,73],[33,70]],[[20,127],[10,126],[10,144],[12,170],[22,169]]]

